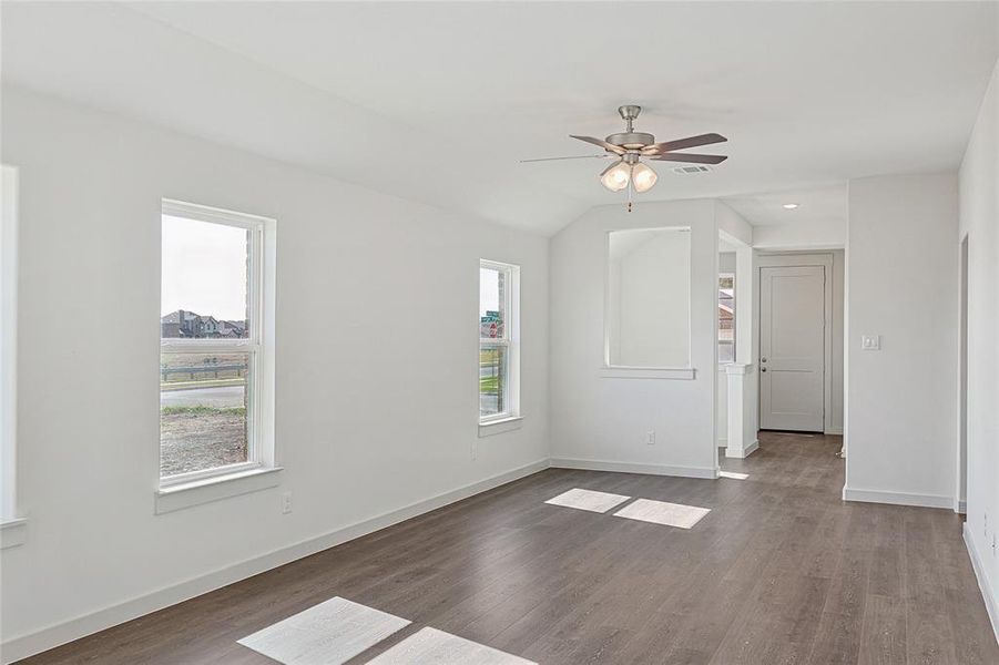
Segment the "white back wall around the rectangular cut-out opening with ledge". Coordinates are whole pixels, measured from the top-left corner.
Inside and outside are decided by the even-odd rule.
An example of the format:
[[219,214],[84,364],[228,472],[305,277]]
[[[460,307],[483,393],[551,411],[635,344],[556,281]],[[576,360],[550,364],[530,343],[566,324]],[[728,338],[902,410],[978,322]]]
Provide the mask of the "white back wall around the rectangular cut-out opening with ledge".
[[[714,475],[717,380],[716,204],[623,202],[593,208],[551,241],[553,463]],[[694,380],[602,376],[606,232],[691,227],[691,364]],[[645,442],[655,430],[655,444]],[[599,463],[599,464],[598,464]]]

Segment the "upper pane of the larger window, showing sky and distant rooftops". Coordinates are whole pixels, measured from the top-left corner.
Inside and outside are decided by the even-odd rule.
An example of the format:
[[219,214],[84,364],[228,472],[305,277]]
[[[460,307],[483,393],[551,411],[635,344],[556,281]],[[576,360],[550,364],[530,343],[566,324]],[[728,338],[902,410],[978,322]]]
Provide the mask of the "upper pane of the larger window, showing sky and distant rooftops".
[[163,216],[163,338],[249,337],[248,248],[244,228]]

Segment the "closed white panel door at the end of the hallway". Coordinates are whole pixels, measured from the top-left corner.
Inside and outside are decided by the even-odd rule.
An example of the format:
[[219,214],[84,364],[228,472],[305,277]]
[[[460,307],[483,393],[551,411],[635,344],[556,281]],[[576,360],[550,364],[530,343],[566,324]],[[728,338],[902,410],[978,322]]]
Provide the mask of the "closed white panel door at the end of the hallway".
[[760,268],[760,427],[823,431],[825,267]]

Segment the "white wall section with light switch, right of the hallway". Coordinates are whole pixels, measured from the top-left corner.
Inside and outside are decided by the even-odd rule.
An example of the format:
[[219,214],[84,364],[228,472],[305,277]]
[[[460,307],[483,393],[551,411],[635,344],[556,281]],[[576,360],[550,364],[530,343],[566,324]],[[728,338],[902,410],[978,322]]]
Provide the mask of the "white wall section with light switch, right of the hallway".
[[951,505],[957,215],[952,173],[849,183],[847,499]]

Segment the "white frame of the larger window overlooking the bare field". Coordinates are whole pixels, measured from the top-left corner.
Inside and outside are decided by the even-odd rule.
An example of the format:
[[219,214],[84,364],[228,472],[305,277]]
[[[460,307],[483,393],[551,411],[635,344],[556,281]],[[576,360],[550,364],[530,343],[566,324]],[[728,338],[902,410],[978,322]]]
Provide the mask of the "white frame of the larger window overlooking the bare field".
[[[276,468],[274,448],[274,227],[269,217],[226,211],[170,198],[162,200],[160,228],[163,217],[181,217],[195,222],[220,224],[249,232],[247,258],[247,337],[238,339],[173,339],[163,338],[160,329],[160,354],[246,354],[246,461],[212,469],[201,469],[174,475],[160,475],[161,490],[198,484],[213,480],[242,477],[247,472]],[[162,257],[162,254],[161,254]],[[162,264],[160,267],[162,279]],[[161,294],[162,297],[162,294]],[[162,308],[161,308],[162,311]],[[161,315],[162,316],[162,315]],[[157,368],[159,370],[159,368]],[[159,374],[157,374],[159,380]],[[157,438],[157,466],[162,439]]]

